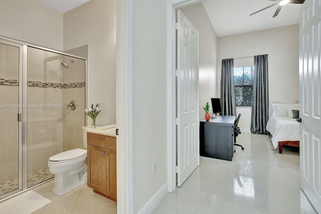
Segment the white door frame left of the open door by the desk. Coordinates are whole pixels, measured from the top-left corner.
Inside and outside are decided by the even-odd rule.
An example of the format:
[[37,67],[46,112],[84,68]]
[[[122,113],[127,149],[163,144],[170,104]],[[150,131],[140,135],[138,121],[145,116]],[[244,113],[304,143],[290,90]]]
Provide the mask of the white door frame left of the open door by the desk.
[[202,0],[168,0],[166,19],[167,61],[167,180],[169,192],[176,189],[176,11]]

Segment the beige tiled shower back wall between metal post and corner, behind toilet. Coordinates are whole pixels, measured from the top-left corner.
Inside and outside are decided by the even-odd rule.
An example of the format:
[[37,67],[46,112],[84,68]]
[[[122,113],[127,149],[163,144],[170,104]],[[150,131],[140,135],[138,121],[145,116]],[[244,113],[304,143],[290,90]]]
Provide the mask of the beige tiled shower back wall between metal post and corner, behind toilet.
[[[52,52],[28,47],[28,173],[48,167],[62,151],[62,62]],[[54,105],[56,108],[33,108]]]

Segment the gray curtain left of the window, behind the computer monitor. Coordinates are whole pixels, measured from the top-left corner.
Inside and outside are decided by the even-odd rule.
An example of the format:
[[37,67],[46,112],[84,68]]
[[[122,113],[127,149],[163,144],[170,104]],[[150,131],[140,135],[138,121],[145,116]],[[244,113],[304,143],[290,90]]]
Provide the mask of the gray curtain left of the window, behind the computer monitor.
[[236,115],[233,59],[222,60],[221,106],[223,115]]

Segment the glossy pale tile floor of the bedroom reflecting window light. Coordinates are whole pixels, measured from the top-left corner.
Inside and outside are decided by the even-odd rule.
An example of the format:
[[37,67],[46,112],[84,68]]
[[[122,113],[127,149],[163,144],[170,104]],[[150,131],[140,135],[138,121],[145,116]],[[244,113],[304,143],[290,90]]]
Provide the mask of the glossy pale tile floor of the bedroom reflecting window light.
[[266,135],[242,132],[233,161],[201,157],[181,187],[153,213],[316,213],[300,189],[299,153],[273,149]]

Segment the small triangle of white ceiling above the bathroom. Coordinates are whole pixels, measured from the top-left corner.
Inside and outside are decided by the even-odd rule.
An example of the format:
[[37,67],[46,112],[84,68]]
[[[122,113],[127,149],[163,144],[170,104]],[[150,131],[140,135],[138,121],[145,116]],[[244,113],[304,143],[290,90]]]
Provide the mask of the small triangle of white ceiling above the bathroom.
[[90,0],[37,0],[38,2],[64,14]]

